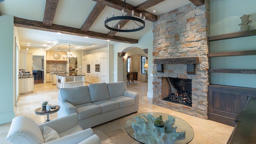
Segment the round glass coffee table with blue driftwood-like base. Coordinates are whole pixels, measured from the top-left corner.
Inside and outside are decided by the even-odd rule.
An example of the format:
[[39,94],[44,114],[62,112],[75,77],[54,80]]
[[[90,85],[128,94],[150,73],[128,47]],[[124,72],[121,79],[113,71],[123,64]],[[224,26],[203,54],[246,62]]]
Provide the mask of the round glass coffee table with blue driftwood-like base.
[[[154,125],[162,116],[164,126]],[[194,130],[186,121],[170,114],[146,112],[132,116],[126,121],[126,132],[143,144],[187,144],[194,138]]]

